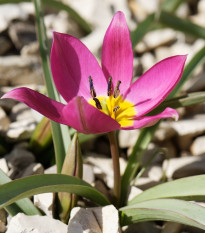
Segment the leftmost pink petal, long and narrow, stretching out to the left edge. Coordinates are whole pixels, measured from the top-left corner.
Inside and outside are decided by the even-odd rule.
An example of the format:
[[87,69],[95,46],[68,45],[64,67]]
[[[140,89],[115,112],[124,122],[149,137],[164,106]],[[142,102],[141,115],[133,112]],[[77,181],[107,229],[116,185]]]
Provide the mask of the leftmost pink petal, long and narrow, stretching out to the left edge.
[[65,119],[62,115],[62,110],[65,105],[52,100],[37,91],[21,87],[6,93],[1,98],[21,101],[49,119],[65,124]]

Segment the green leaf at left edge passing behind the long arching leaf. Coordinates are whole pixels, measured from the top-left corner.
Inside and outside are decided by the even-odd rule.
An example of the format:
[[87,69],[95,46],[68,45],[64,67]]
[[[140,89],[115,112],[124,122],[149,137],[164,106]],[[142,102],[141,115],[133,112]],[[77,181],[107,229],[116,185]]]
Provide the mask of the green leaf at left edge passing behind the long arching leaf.
[[[8,183],[10,181],[11,179],[0,169],[0,185]],[[41,215],[41,212],[34,206],[34,204],[28,198],[16,201],[15,203],[5,207],[5,209],[11,216],[14,216],[20,212],[26,215]]]

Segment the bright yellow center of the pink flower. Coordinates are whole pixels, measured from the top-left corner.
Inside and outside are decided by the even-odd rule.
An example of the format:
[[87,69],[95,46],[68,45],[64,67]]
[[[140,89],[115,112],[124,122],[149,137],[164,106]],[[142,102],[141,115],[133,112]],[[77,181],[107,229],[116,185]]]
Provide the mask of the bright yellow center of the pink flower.
[[[121,95],[119,95],[117,98],[114,98],[113,95],[98,96],[97,99],[99,100],[102,107],[101,109],[98,109],[116,120],[121,125],[121,127],[133,125],[133,117],[137,113],[133,103],[124,100]],[[97,108],[96,101],[93,98],[88,102]]]

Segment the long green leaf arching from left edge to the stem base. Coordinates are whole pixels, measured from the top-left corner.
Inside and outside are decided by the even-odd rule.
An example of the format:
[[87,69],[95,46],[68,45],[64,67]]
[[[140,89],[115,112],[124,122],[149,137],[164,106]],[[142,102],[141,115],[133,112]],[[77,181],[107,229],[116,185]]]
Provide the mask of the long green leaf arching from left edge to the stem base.
[[67,175],[33,175],[0,186],[0,208],[35,194],[68,192],[86,197],[99,205],[109,205],[107,198],[85,181]]

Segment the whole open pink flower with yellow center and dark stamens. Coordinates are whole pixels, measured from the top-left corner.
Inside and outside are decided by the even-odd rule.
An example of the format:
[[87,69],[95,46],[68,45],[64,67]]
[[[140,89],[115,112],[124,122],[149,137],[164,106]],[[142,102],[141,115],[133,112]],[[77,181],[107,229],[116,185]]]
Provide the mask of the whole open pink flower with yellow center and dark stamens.
[[132,83],[133,51],[124,14],[117,12],[102,46],[102,68],[93,54],[73,36],[54,32],[51,70],[56,88],[67,104],[29,88],[17,88],[2,98],[24,102],[44,116],[85,134],[151,126],[162,118],[178,118],[158,106],[181,78],[186,56],[173,56],[154,65]]

